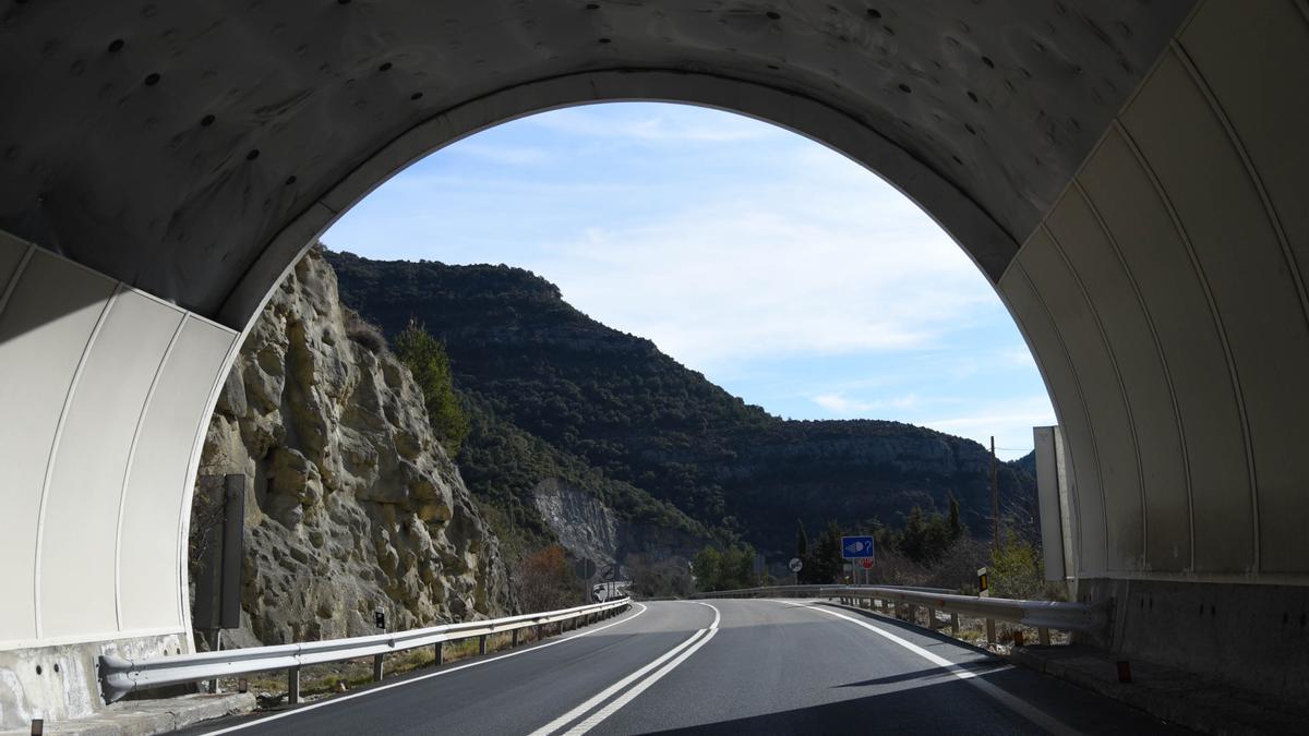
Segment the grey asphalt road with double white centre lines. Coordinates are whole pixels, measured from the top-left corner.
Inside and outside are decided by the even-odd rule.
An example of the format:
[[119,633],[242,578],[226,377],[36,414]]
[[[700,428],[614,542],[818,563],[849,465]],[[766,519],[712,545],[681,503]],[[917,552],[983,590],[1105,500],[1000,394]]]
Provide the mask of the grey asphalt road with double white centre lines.
[[[708,605],[706,605],[708,604]],[[670,601],[187,733],[1166,733],[946,636],[818,601]]]

